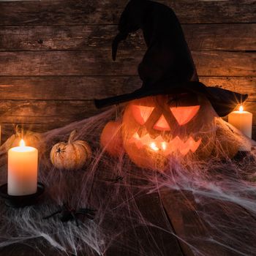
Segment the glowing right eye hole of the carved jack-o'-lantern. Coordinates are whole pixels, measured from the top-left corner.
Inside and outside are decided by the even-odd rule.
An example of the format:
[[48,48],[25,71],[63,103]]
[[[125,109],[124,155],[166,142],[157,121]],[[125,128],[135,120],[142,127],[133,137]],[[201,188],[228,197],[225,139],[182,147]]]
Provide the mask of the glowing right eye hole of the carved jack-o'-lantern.
[[179,125],[187,124],[198,112],[200,106],[170,108]]

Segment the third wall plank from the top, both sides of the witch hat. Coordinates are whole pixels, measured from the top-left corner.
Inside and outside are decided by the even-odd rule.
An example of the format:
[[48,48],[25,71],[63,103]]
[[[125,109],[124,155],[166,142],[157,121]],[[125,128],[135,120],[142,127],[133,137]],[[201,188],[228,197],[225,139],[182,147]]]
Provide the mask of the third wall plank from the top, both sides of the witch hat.
[[[0,75],[137,75],[143,51],[0,52]],[[192,51],[199,75],[253,76],[256,53]]]

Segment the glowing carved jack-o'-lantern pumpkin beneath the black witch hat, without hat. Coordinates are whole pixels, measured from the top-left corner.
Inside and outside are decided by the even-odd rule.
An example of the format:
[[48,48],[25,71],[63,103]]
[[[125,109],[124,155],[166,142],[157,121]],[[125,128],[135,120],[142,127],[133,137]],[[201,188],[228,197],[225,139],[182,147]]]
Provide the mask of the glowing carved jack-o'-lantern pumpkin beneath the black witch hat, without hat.
[[163,170],[167,159],[208,157],[214,146],[215,112],[196,94],[135,99],[124,110],[122,137],[130,159]]

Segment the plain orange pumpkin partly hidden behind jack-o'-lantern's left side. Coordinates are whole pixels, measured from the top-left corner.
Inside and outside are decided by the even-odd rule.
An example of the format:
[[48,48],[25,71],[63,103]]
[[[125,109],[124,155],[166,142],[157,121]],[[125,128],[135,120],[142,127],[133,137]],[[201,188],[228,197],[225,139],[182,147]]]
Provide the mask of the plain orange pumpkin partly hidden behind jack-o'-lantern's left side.
[[123,140],[121,138],[120,122],[109,121],[105,125],[100,136],[100,144],[111,156],[116,157],[121,155],[123,151]]

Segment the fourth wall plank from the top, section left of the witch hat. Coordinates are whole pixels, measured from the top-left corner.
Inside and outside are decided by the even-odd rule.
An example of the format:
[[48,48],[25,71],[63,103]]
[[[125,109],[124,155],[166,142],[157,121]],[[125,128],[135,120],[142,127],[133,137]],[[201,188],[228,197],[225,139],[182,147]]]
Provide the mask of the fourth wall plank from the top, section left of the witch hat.
[[140,86],[137,76],[0,77],[0,99],[100,99]]

